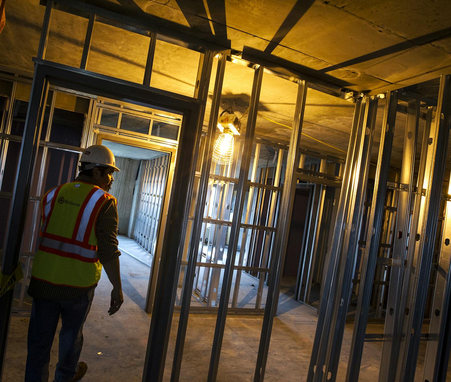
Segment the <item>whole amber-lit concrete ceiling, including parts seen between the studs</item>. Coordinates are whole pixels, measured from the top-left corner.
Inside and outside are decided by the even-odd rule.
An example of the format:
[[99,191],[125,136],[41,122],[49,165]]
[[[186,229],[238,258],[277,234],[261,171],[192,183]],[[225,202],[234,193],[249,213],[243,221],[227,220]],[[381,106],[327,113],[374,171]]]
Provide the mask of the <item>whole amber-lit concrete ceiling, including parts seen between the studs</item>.
[[[243,58],[249,60],[265,60],[358,92],[378,93],[451,70],[448,0],[373,3],[361,0],[92,0],[86,3],[139,18],[156,28],[242,51]],[[0,65],[31,72],[45,8],[38,0],[7,0],[5,9],[6,26],[0,34],[0,51],[8,53],[0,55]],[[55,9],[46,59],[78,66],[86,28],[86,18]],[[141,83],[148,43],[147,36],[96,23],[87,69]],[[193,96],[199,56],[196,51],[158,40],[151,86]],[[216,64],[209,103],[215,73]],[[221,110],[235,101],[236,114],[243,115],[243,131],[252,81],[253,69],[227,62]],[[437,82],[415,86],[414,90],[434,98]],[[290,126],[293,122],[296,92],[295,83],[264,74],[256,133],[289,141],[290,128],[283,125]],[[381,127],[383,103],[379,110],[377,125]],[[308,89],[303,126],[306,135],[301,144],[315,151],[344,155],[353,112],[353,103]],[[392,152],[395,164],[400,161],[404,143],[405,116],[398,115],[396,129],[401,133],[399,138],[396,135]],[[205,123],[208,118],[207,107]],[[377,142],[380,127],[376,131]],[[373,157],[377,157],[376,146]]]

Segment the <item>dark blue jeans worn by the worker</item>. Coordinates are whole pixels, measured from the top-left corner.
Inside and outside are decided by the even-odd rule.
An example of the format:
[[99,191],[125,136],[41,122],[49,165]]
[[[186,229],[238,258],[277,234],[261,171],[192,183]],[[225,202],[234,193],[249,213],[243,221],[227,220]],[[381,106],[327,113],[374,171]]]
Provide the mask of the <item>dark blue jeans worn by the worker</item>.
[[83,323],[91,308],[94,289],[67,301],[33,299],[25,382],[48,381],[50,350],[60,316],[62,325],[55,381],[66,382],[74,377],[83,346]]

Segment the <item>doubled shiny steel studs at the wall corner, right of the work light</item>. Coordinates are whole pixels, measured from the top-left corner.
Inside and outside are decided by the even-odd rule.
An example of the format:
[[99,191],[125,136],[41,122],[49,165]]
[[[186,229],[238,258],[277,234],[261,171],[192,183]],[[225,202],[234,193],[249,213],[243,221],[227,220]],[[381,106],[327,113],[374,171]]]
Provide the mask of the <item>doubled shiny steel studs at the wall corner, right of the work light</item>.
[[[354,118],[357,124],[353,130],[355,129],[357,133],[355,138],[351,136],[348,150],[348,158],[350,156],[351,158],[349,158],[350,161],[346,161],[336,234],[334,234],[325,280],[327,289],[323,292],[319,310],[308,381],[323,381],[330,378],[335,380],[336,378],[345,317],[350,300],[350,286],[360,232],[376,110],[376,97],[364,97],[360,108],[356,109],[359,117]],[[342,222],[341,219],[343,219]]]

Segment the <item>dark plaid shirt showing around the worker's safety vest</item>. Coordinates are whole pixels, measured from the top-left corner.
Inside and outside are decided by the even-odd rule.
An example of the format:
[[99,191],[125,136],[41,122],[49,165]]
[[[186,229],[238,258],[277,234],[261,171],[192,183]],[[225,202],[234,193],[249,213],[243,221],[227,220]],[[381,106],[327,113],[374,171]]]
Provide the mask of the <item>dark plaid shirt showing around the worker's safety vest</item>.
[[[75,180],[99,186],[96,179],[91,176],[80,175]],[[99,212],[96,221],[97,256],[102,264],[120,256],[120,251],[117,248],[119,242],[116,237],[118,222],[116,205],[113,200],[109,200]],[[93,288],[96,286],[97,284]],[[86,291],[86,288],[53,285],[32,277],[27,293],[31,297],[39,299],[71,300],[76,299]]]

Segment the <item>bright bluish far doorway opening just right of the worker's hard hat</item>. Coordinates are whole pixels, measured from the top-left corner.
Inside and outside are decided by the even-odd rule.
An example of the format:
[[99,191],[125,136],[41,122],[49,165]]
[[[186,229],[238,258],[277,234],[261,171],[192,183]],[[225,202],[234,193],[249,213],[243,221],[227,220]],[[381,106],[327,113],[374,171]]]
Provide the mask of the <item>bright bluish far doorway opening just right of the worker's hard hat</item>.
[[[118,248],[123,256],[141,263],[137,265],[140,272],[133,275],[147,275],[151,287],[170,153],[107,139],[101,144],[110,148],[121,170],[110,190],[118,201]],[[148,300],[147,282],[138,282],[135,289]],[[144,299],[138,301],[140,308],[147,310]]]

